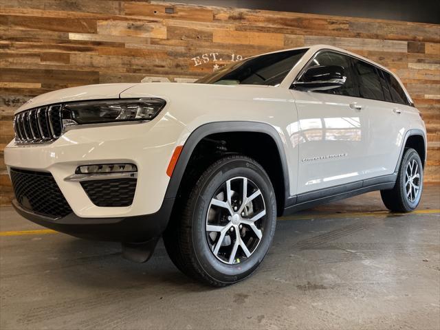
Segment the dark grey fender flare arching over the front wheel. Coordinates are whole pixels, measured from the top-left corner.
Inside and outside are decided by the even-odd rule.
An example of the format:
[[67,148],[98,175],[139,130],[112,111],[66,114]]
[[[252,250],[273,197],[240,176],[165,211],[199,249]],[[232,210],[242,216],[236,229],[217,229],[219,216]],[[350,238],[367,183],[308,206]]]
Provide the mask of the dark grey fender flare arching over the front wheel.
[[177,197],[177,191],[179,190],[181,179],[184,176],[186,166],[188,165],[189,159],[197,144],[208,135],[215,133],[231,132],[265,133],[269,135],[272,140],[274,140],[276,147],[278,148],[278,154],[280,155],[281,166],[283,168],[283,181],[285,190],[285,200],[283,201],[283,203],[286,203],[286,199],[290,195],[289,167],[287,166],[287,158],[285,155],[285,148],[283,147],[281,136],[270,124],[264,122],[246,121],[210,122],[208,124],[203,124],[192,131],[179,155],[179,159],[177,160],[173,175],[171,175],[170,181],[168,183],[168,188],[166,189],[165,193],[166,199]]

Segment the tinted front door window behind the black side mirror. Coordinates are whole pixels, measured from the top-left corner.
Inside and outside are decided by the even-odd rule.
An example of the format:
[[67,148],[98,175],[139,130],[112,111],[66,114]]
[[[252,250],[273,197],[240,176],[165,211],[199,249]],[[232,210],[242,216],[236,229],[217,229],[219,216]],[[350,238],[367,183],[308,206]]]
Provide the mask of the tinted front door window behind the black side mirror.
[[322,52],[314,58],[309,67],[315,67],[316,65],[340,65],[344,68],[344,74],[347,77],[347,80],[345,80],[344,85],[341,87],[319,91],[320,93],[359,96],[358,87],[353,78],[352,62],[349,56],[334,52]]

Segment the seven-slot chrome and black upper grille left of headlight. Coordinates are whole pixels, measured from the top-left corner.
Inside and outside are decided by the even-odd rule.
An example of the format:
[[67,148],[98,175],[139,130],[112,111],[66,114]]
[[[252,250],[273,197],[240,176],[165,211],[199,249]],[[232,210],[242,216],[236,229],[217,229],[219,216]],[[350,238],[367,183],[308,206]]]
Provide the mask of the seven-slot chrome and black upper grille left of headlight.
[[44,143],[63,133],[61,104],[29,109],[14,117],[15,142]]

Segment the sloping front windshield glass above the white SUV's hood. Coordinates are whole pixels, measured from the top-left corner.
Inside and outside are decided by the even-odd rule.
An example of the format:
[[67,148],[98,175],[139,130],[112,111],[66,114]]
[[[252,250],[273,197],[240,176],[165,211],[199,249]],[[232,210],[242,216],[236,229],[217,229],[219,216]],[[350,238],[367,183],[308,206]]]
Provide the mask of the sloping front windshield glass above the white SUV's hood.
[[219,69],[195,83],[217,85],[280,85],[307,49],[287,50],[245,59]]

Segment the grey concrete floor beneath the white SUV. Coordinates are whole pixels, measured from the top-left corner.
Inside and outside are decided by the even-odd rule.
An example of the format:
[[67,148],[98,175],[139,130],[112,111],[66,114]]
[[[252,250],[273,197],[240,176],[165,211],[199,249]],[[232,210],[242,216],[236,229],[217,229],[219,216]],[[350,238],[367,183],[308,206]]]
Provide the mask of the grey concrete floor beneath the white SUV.
[[[1,329],[440,329],[440,188],[390,214],[372,192],[280,219],[248,280],[212,289],[162,243],[146,264],[115,243],[0,233]],[[11,208],[1,232],[41,230]]]

